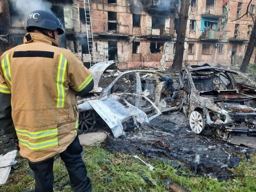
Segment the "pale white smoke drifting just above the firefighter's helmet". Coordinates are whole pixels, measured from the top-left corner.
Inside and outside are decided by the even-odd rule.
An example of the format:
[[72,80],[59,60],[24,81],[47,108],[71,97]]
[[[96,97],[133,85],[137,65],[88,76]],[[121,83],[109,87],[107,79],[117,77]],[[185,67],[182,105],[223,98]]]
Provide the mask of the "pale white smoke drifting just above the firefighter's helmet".
[[11,0],[13,8],[17,10],[22,21],[24,28],[26,28],[26,21],[29,13],[35,10],[45,10],[51,12],[52,4],[44,0]]

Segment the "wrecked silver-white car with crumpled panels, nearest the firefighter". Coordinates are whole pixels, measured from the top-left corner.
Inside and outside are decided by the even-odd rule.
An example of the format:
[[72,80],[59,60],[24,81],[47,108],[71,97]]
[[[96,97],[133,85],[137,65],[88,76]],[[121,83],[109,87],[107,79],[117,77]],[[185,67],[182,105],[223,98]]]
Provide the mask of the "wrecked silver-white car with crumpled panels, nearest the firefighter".
[[[111,83],[106,83],[109,78],[102,80],[102,74],[111,65],[115,65],[115,61],[97,63],[90,68],[94,88],[90,94],[78,100],[81,132],[91,131],[95,126],[94,111],[118,138],[125,131],[148,123],[164,111],[179,109],[170,77],[155,70],[129,70],[121,74],[118,72]],[[112,75],[116,74],[111,72]],[[108,86],[99,87],[100,80],[104,86]]]

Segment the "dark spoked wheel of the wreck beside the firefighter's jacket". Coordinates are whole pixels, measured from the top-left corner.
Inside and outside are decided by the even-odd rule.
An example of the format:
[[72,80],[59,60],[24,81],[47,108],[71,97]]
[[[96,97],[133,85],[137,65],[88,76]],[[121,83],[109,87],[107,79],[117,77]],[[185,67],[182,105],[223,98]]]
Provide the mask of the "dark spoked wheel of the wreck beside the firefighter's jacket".
[[92,131],[96,124],[96,117],[93,111],[82,111],[79,113],[79,132],[86,133]]

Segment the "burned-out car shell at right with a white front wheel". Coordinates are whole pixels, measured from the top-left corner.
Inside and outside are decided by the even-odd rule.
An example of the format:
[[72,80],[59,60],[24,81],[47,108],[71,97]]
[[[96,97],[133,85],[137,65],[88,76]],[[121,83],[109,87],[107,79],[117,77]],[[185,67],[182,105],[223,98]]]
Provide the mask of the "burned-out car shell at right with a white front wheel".
[[210,127],[218,138],[238,145],[236,136],[247,141],[256,136],[256,83],[245,74],[207,64],[186,67],[179,89],[182,111],[196,134]]

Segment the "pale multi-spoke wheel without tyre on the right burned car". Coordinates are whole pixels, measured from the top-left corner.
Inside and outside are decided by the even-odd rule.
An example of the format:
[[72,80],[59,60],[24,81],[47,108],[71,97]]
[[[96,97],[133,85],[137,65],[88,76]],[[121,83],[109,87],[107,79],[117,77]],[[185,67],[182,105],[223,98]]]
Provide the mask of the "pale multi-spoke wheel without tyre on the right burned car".
[[189,115],[189,125],[193,132],[200,134],[204,130],[204,116],[198,111]]

